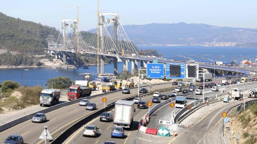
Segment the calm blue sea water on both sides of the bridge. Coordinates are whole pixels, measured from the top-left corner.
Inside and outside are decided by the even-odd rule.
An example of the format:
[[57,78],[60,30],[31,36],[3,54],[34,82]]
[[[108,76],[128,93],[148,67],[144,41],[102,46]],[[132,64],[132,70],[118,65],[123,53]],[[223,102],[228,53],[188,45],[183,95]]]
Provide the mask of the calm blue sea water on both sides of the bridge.
[[[193,58],[199,61],[208,61],[212,59],[213,61],[223,61],[230,62],[231,60],[250,59],[257,58],[256,48],[240,48],[240,47],[200,47],[200,46],[138,46],[139,49],[156,49],[159,53],[163,54],[165,58],[176,58],[185,59]],[[57,72],[53,72],[53,77],[70,77],[72,81],[74,80],[84,80],[84,75],[79,75],[81,73],[92,73],[91,79],[97,78],[96,65],[89,66],[89,69],[83,69],[79,67],[78,69],[58,69]],[[104,66],[106,73],[113,73],[113,63],[105,64]],[[26,68],[27,69],[27,68]],[[129,63],[129,70],[131,69],[131,63]],[[21,83],[22,76],[21,68],[15,69],[0,69],[0,82],[5,80],[18,81]],[[27,86],[45,86],[47,79],[52,78],[52,68],[29,68],[28,71],[24,71],[23,74],[23,85]],[[118,72],[123,70],[123,63],[118,63]]]

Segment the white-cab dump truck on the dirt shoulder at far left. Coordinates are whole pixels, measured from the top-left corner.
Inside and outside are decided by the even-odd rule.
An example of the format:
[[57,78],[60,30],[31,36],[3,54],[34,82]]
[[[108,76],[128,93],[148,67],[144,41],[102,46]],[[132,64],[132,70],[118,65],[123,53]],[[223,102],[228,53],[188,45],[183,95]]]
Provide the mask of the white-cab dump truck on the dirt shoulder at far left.
[[39,105],[53,106],[59,104],[60,99],[60,89],[43,89],[41,91]]

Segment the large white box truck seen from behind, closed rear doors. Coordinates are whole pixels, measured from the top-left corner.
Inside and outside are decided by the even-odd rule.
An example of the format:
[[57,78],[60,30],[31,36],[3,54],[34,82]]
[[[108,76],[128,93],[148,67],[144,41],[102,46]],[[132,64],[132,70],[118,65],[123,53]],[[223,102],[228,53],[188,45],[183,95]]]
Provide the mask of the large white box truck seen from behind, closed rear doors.
[[118,100],[115,102],[113,126],[130,128],[136,112],[133,101]]

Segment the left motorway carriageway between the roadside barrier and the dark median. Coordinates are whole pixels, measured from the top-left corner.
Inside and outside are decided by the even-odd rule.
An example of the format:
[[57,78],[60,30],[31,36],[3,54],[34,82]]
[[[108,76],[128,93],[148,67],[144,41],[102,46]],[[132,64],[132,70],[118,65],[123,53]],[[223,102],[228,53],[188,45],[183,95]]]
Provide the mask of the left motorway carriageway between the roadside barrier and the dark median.
[[[161,88],[170,87],[170,86],[171,84],[153,86],[151,90],[161,89]],[[138,90],[135,89],[135,90],[131,90],[131,94],[121,94],[120,92],[120,93],[106,95],[105,97],[107,98],[107,102],[105,105],[115,102],[119,99],[124,99],[137,94],[138,94]],[[95,102],[97,105],[97,108],[99,109],[103,107],[102,98],[103,97],[93,98],[90,100],[90,102]],[[3,142],[4,139],[7,138],[9,135],[19,134],[19,135],[23,135],[25,143],[34,143],[39,140],[38,138],[44,129],[44,125],[48,126],[48,130],[53,136],[53,134],[57,134],[57,132],[62,131],[65,128],[64,126],[71,125],[72,123],[74,123],[73,121],[83,118],[86,115],[89,115],[91,113],[94,113],[94,111],[86,110],[85,106],[79,106],[78,103],[72,104],[70,106],[66,106],[66,107],[57,109],[55,111],[46,113],[47,120],[48,120],[47,122],[32,123],[31,120],[27,120],[19,125],[11,127],[5,131],[2,131],[0,133],[0,142]]]

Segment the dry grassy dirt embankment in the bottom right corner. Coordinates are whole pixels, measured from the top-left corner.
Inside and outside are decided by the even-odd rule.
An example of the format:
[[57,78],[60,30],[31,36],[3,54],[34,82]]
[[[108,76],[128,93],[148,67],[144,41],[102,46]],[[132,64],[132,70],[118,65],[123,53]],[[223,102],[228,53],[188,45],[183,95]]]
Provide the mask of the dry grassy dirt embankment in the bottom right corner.
[[[257,143],[257,104],[233,116],[232,127],[234,130],[233,141],[235,144]],[[236,137],[239,137],[237,139]]]

